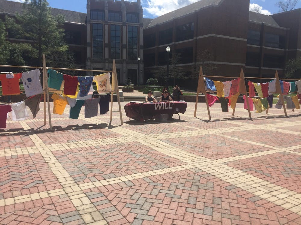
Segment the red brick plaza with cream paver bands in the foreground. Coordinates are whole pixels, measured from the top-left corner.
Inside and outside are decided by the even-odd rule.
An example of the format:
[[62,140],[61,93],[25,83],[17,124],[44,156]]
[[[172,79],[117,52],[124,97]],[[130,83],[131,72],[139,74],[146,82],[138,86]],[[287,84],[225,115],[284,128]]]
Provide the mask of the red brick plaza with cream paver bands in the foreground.
[[[301,224],[301,113],[51,114],[0,132],[0,224]],[[52,103],[51,103],[52,106]],[[52,108],[51,108],[52,112]],[[30,117],[32,118],[32,116]],[[48,117],[47,117],[48,120]]]

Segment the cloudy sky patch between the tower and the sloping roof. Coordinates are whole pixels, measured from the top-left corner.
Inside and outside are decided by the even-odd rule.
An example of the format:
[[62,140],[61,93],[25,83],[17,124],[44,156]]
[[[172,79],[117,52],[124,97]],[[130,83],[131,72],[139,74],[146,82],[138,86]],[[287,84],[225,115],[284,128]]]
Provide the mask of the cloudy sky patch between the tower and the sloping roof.
[[143,0],[143,10],[146,10],[154,16],[161,16],[197,1],[198,0]]

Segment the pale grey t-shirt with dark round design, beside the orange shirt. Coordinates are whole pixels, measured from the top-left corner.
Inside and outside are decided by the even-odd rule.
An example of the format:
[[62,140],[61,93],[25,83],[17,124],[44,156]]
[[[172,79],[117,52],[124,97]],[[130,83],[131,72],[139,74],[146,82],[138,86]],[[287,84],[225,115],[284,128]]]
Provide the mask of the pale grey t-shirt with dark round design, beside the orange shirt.
[[40,74],[41,73],[39,69],[22,73],[21,79],[27,98],[43,93]]

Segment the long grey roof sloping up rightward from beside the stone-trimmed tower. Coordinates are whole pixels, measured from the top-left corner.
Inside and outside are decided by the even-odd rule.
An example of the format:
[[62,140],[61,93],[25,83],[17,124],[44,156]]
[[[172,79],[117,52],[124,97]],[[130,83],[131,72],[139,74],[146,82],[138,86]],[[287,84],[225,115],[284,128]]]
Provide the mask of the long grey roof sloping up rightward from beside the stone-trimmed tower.
[[[144,25],[144,28],[155,26],[157,23],[160,24],[160,23],[172,20],[173,18],[178,18],[178,17],[184,16],[186,14],[194,12],[195,10],[198,10],[198,9],[210,6],[210,5],[218,5],[221,1],[223,1],[223,0],[200,0],[200,1],[197,1],[190,5],[184,6],[177,10],[174,10],[172,12],[169,12],[162,16],[158,16],[157,18],[154,18],[149,23],[148,26],[145,27],[145,25]],[[143,22],[144,22],[144,20],[143,20]]]

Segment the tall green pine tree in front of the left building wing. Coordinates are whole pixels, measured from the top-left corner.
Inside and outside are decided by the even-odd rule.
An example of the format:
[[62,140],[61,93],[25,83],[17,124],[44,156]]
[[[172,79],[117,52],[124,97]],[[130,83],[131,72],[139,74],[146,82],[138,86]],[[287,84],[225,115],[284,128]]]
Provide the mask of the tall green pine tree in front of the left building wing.
[[[46,0],[25,0],[21,14],[16,14],[16,18],[6,16],[6,25],[9,29],[9,36],[28,40],[30,45],[27,45],[27,55],[31,58],[30,61],[24,59],[27,65],[42,65],[42,54],[47,55],[47,63],[51,66],[57,66],[70,58],[68,46],[64,43],[64,16],[51,15],[51,8]],[[24,45],[24,44],[23,44]],[[25,50],[24,48],[21,48]],[[54,54],[56,54],[54,56]],[[22,53],[23,56],[26,52]],[[54,60],[54,58],[56,60]],[[74,60],[71,60],[73,64]]]

